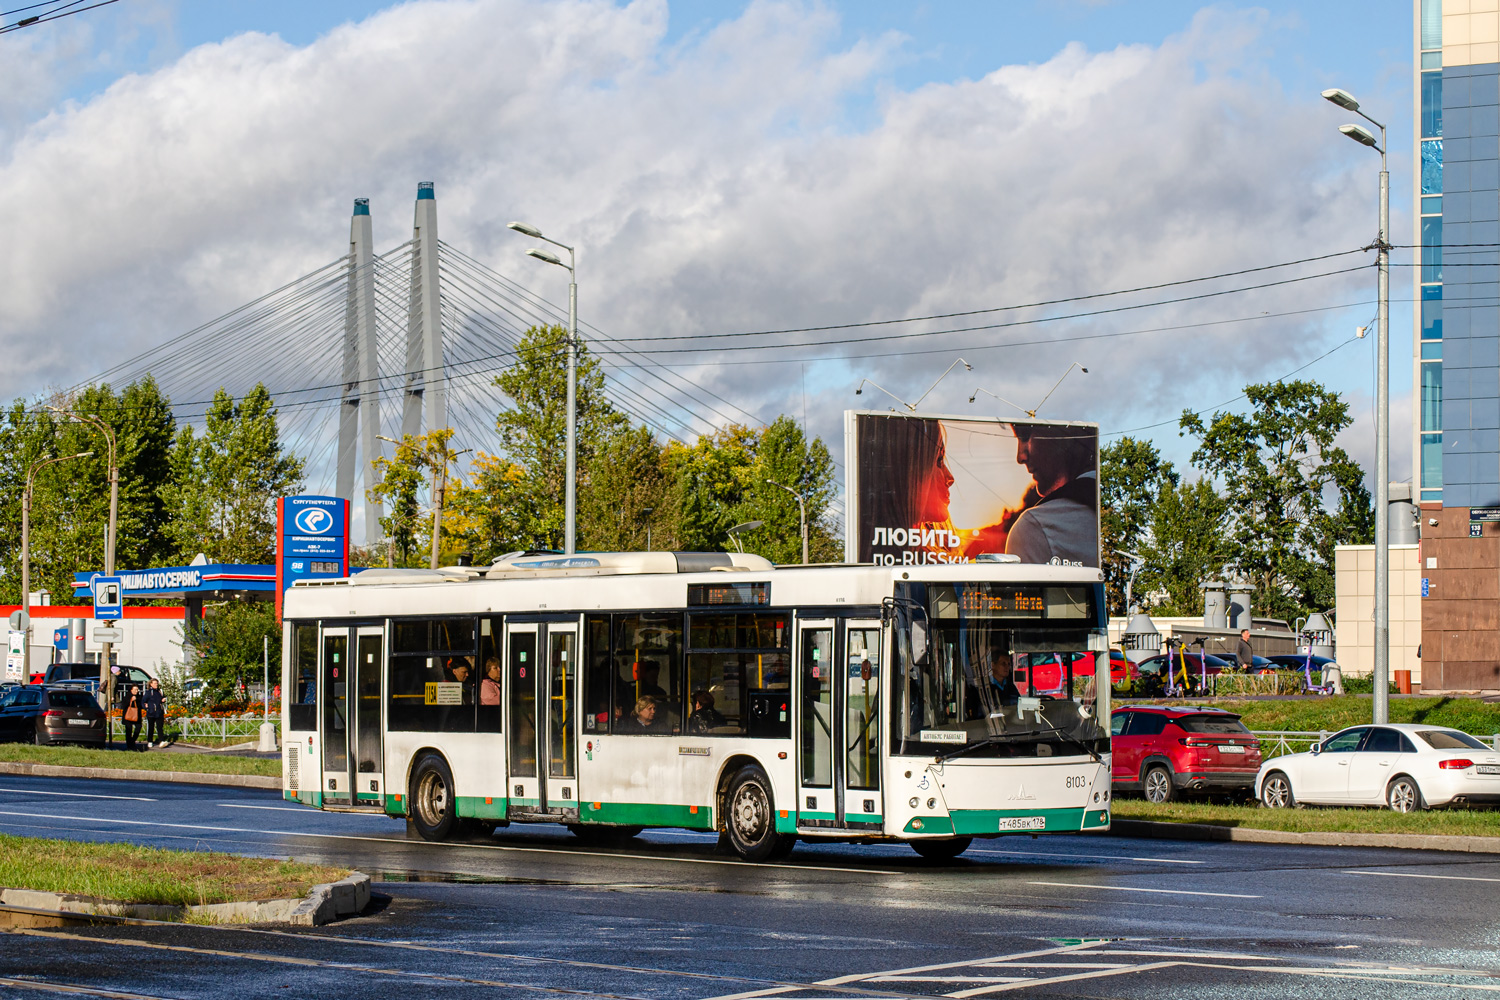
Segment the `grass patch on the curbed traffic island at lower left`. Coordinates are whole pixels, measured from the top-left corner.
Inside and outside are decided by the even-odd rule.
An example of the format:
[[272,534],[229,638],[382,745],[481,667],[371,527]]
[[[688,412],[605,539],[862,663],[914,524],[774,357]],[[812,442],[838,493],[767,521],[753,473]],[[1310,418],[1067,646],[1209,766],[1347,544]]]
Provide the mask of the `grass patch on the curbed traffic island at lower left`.
[[198,906],[304,897],[312,886],[348,874],[344,868],[278,858],[0,834],[0,886],[8,889]]

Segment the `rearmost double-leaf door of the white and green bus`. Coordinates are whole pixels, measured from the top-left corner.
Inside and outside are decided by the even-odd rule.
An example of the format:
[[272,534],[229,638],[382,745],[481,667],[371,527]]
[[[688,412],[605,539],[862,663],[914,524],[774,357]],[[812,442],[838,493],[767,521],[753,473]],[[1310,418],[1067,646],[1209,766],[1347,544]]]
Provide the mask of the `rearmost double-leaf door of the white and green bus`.
[[320,669],[322,804],[376,807],[384,793],[380,709],[386,630],[378,625],[322,630]]

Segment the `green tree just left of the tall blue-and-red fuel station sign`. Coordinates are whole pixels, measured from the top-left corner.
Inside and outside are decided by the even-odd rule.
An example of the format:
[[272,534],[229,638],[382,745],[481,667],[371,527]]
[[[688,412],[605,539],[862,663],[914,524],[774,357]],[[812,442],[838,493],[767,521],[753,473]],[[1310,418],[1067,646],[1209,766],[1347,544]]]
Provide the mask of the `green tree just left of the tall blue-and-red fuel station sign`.
[[272,394],[256,385],[236,402],[220,388],[204,424],[202,436],[188,426],[172,444],[166,537],[182,561],[202,552],[216,562],[270,562],[276,498],[303,481],[303,460],[280,442]]

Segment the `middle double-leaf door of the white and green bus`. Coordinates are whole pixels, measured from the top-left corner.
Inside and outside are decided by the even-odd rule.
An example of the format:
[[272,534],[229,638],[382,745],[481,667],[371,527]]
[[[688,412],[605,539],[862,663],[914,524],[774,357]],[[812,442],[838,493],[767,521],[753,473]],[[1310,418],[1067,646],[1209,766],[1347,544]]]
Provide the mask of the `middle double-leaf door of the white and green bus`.
[[507,624],[507,810],[578,816],[578,625]]

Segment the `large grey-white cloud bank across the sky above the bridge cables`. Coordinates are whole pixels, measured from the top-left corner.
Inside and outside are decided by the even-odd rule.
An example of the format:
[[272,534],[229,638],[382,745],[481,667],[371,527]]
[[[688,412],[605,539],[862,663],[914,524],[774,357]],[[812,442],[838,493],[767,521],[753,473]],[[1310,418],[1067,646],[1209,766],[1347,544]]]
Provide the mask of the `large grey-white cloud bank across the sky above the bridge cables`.
[[[1329,138],[1326,108],[1268,78],[1257,13],[1210,9],[1160,46],[1070,45],[910,93],[884,85],[898,37],[836,48],[816,6],[753,3],[676,46],[668,16],[662,0],[424,0],[308,46],[204,45],[20,126],[0,145],[0,393],[74,382],[327,262],[354,196],[370,196],[378,244],[405,240],[417,180],[438,184],[447,241],[554,298],[560,276],[504,223],[576,241],[584,316],[614,336],[982,309],[1368,240],[1368,165]],[[873,123],[852,124],[876,93]],[[909,354],[924,340],[830,346],[816,357],[897,357],[810,364],[808,418],[837,445],[838,412],[868,399],[852,396],[861,376],[916,396],[964,354],[975,372],[934,409],[984,411],[975,385],[1035,405],[1082,360],[1090,375],[1044,415],[1137,426],[1281,375],[1348,324],[978,348],[1316,309],[1371,285],[968,334],[930,355]],[[801,412],[798,364],[663,360],[762,414]]]

